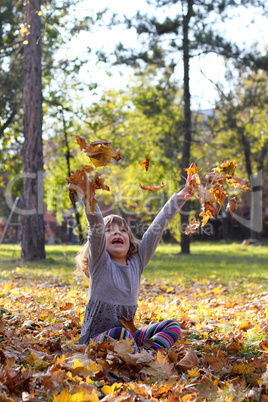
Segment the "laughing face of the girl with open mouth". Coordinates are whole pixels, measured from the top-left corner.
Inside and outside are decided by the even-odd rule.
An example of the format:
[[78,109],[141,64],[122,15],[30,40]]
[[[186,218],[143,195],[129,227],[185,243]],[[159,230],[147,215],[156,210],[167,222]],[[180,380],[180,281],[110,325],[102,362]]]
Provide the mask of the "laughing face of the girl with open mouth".
[[112,260],[125,265],[130,246],[127,229],[124,226],[113,223],[105,228],[105,236],[106,251],[110,254]]

